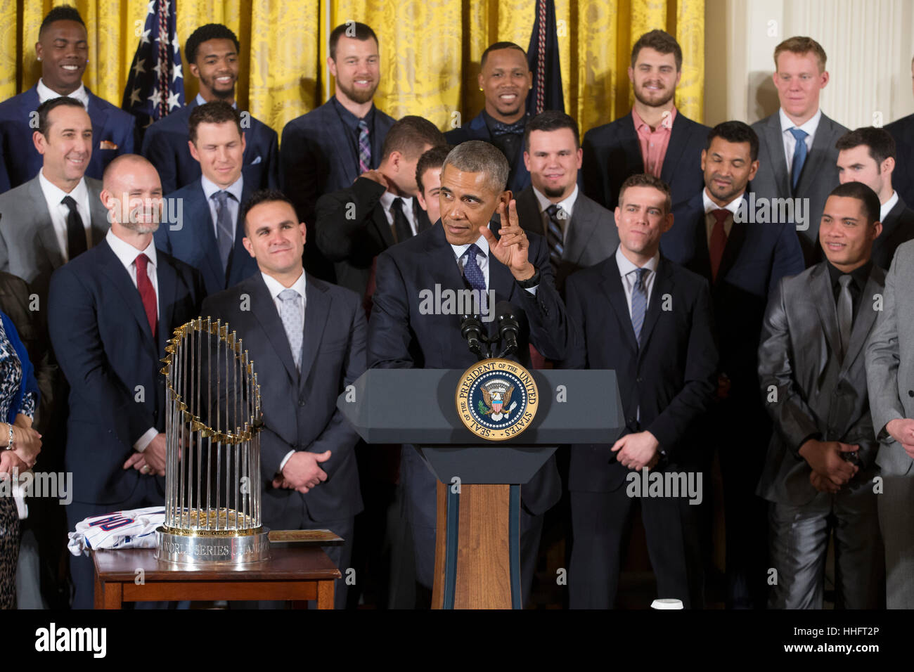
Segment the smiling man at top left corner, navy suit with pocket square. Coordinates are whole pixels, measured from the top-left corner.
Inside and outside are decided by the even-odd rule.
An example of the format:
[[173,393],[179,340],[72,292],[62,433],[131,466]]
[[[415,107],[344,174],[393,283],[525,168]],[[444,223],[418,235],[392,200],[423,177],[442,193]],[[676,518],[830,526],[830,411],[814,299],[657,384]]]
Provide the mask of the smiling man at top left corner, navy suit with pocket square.
[[35,44],[41,79],[28,91],[0,102],[0,193],[37,175],[41,155],[32,144],[38,105],[58,96],[80,101],[92,122],[92,151],[87,176],[101,179],[115,157],[133,152],[135,120],[82,83],[89,62],[86,25],[71,6],[54,7],[45,16]]

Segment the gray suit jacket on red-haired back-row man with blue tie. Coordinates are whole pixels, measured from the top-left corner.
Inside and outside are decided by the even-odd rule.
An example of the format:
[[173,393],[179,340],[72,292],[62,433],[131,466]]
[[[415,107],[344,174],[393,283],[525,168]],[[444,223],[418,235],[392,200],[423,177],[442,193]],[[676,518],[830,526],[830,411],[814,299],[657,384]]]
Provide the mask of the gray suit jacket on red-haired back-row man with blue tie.
[[822,249],[819,247],[819,220],[822,219],[825,199],[832,193],[832,189],[838,186],[838,150],[834,148],[834,144],[847,133],[847,129],[823,113],[813,137],[813,149],[806,155],[795,191],[791,188],[790,171],[787,169],[788,157],[784,154],[780,114],[775,112],[770,117],[753,123],[752,130],[759,134],[759,172],[749,185],[749,191],[755,192],[757,199],[809,199],[808,207],[803,209],[809,227],[798,233],[806,266],[812,266],[822,259]]

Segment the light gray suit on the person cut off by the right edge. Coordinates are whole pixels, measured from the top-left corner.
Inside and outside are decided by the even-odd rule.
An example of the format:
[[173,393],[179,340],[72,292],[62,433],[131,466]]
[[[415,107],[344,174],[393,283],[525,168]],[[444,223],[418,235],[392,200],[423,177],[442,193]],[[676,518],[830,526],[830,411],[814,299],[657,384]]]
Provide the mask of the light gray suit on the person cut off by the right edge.
[[889,421],[914,418],[914,241],[898,246],[886,276],[882,312],[866,347],[873,427],[883,440],[879,528],[886,542],[889,609],[914,609],[914,460],[885,432]]

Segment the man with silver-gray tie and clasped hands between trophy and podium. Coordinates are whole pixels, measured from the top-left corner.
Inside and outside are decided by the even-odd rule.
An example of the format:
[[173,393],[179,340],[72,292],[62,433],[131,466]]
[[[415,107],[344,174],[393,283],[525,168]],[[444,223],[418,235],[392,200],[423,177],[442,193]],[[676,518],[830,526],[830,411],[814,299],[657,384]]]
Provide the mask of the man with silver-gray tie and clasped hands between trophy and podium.
[[[296,219],[281,192],[254,194],[241,221],[245,250],[260,272],[209,296],[202,312],[237,331],[255,362],[263,397],[263,524],[333,530],[345,544],[324,550],[345,576],[362,498],[358,435],[336,398],[365,372],[365,313],[355,293],[303,271],[305,225]],[[336,608],[345,597],[340,579]]]

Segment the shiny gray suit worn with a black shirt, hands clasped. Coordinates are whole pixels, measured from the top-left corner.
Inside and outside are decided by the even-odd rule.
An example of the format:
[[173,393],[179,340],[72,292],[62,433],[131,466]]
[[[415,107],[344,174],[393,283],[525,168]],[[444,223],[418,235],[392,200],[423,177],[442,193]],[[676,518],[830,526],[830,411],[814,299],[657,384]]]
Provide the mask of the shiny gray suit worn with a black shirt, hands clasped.
[[[765,312],[759,379],[775,432],[757,494],[771,502],[771,567],[778,574],[770,607],[822,608],[833,528],[837,605],[872,609],[883,603],[884,560],[873,493],[878,444],[864,358],[876,323],[873,296],[882,293],[884,283],[885,272],[873,264],[843,360],[826,261],[781,280]],[[860,470],[834,495],[817,491],[809,481],[812,470],[798,451],[810,438],[860,446]]]

